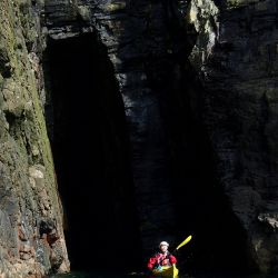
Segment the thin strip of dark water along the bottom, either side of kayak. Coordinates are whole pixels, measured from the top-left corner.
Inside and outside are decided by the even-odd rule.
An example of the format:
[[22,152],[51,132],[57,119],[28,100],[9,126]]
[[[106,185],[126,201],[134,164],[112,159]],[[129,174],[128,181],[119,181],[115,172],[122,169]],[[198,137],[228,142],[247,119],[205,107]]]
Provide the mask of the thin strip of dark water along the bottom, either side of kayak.
[[[50,278],[149,278],[145,274],[97,274],[97,272],[70,272],[66,275],[53,275]],[[198,274],[198,275],[179,275],[178,278],[277,278],[277,275],[228,275],[228,274]]]

